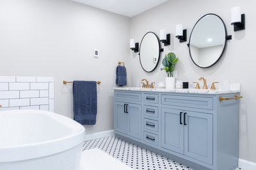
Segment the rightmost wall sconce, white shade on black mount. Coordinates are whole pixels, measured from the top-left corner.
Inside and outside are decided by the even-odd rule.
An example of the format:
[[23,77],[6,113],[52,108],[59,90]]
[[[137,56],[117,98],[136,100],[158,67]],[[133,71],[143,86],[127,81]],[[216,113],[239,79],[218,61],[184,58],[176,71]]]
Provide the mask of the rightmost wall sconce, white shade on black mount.
[[231,9],[231,25],[234,25],[234,31],[245,29],[245,14],[241,14],[241,7]]

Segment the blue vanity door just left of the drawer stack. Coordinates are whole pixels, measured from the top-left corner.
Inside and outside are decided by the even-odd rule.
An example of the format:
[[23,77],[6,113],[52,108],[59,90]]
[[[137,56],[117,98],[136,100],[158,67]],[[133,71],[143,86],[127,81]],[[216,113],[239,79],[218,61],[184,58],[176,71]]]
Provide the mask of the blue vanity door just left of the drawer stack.
[[127,135],[142,139],[141,105],[127,103],[128,129]]

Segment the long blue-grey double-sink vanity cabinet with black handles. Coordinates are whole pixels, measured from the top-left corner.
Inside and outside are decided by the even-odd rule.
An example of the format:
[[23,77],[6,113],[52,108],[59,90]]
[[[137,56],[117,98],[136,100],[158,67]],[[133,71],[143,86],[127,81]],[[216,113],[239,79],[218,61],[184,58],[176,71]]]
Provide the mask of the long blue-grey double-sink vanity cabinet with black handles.
[[115,132],[196,170],[236,169],[239,99],[220,101],[234,95],[115,90]]

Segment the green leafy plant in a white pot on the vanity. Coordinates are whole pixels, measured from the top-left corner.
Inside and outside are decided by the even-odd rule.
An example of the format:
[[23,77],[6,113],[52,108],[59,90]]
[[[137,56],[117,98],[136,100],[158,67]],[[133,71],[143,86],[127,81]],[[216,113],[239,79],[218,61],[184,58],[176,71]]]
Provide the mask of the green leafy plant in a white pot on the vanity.
[[161,68],[161,70],[164,70],[167,74],[167,77],[165,77],[165,88],[175,88],[173,71],[178,60],[179,58],[176,58],[176,55],[173,52],[165,54],[165,58],[163,58],[163,68]]

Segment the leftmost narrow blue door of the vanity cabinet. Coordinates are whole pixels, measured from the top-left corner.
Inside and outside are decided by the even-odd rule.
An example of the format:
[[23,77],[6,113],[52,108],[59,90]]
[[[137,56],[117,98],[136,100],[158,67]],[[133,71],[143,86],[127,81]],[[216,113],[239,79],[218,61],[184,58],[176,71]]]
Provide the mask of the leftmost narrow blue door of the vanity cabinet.
[[127,113],[124,107],[124,102],[115,102],[115,130],[127,134]]

